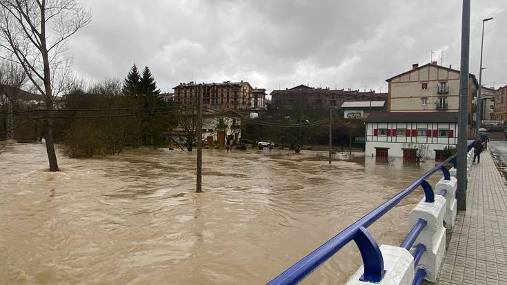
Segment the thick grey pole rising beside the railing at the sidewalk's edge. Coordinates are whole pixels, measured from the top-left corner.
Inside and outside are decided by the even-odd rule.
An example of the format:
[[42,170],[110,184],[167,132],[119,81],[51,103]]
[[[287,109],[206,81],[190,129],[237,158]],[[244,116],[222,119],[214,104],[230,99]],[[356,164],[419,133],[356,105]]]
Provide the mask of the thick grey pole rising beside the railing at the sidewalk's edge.
[[461,15],[461,66],[459,70],[459,119],[458,119],[458,155],[457,155],[457,209],[466,210],[466,190],[468,171],[466,147],[468,134],[468,63],[470,57],[470,0],[463,0]]

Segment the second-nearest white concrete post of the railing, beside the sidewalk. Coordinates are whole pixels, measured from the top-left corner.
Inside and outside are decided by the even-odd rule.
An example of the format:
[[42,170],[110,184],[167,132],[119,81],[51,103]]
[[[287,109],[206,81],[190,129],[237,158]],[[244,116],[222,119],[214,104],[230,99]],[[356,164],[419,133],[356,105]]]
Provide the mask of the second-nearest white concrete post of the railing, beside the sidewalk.
[[420,218],[426,219],[426,226],[415,240],[415,250],[417,244],[424,244],[426,251],[421,257],[417,268],[426,270],[425,279],[430,282],[436,282],[442,259],[444,259],[446,250],[446,228],[444,228],[444,215],[446,213],[446,198],[435,195],[434,203],[426,203],[425,199],[410,211],[408,214],[408,226],[411,229]]

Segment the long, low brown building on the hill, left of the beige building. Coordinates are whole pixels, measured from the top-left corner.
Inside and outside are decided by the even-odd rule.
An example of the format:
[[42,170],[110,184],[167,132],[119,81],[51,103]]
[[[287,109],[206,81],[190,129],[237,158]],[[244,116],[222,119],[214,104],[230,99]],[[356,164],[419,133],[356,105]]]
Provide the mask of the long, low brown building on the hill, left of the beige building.
[[387,99],[387,93],[344,89],[330,90],[329,88],[312,88],[305,85],[286,90],[273,90],[270,95],[273,108],[292,108],[298,104],[315,108],[340,108],[345,101],[385,101]]

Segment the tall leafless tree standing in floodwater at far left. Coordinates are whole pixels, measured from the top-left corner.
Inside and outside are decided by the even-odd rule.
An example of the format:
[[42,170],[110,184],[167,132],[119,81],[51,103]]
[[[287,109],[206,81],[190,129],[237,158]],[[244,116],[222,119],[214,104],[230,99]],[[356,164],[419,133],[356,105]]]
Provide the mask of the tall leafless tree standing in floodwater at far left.
[[21,65],[49,110],[44,137],[50,171],[58,171],[51,111],[68,72],[65,43],[91,18],[74,0],[0,0],[0,47],[5,51],[0,57]]

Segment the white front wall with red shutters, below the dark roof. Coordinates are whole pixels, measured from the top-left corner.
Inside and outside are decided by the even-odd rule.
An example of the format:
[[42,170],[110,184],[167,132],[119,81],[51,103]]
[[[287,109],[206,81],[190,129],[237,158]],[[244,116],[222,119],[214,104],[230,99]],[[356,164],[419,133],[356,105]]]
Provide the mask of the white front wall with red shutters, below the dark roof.
[[377,149],[384,148],[388,157],[403,157],[404,149],[422,145],[428,146],[426,159],[435,158],[435,150],[455,147],[457,123],[366,123],[366,155],[375,156]]

